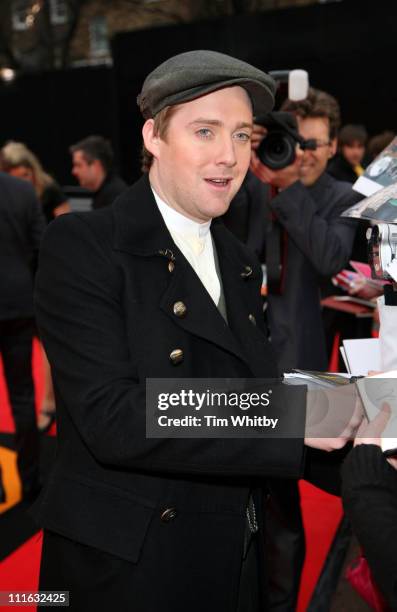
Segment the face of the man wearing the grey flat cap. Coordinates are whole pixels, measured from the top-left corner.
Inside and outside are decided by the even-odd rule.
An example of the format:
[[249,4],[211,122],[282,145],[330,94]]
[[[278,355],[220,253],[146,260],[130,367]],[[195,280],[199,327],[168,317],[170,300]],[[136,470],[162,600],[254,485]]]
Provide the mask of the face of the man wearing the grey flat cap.
[[181,104],[166,139],[143,135],[154,155],[150,181],[169,206],[203,223],[225,213],[250,162],[252,106],[241,87],[228,87]]

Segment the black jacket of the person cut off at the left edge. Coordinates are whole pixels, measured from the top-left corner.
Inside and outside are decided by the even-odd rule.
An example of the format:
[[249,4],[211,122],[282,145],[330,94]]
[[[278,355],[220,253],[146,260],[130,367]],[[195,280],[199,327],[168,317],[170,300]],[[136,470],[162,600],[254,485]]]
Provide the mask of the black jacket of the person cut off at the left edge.
[[0,320],[33,317],[33,273],[45,228],[33,187],[0,172]]

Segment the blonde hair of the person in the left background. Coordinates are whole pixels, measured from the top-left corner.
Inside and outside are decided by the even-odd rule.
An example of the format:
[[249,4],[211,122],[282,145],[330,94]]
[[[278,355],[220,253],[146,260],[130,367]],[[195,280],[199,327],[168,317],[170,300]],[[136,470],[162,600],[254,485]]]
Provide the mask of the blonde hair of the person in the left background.
[[46,187],[54,183],[51,176],[44,171],[36,155],[23,142],[10,140],[0,151],[0,167],[4,172],[9,172],[18,166],[32,171],[33,186],[39,198]]

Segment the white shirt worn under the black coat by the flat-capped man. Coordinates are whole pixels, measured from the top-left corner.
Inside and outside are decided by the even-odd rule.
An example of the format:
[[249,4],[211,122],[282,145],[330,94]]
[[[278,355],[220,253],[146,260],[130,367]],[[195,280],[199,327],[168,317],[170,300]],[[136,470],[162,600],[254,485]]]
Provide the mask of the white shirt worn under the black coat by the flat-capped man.
[[160,198],[152,187],[158,209],[175,244],[182,251],[193,270],[217,306],[221,285],[215,267],[211,238],[211,221],[198,223],[174,210]]

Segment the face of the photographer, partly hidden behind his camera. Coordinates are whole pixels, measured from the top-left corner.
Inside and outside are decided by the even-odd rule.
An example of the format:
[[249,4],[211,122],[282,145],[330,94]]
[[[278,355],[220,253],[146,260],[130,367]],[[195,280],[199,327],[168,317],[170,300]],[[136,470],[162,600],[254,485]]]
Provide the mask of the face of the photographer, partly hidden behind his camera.
[[306,187],[313,185],[325,172],[328,160],[335,155],[336,139],[330,140],[329,121],[325,117],[297,117],[300,134],[317,141],[315,151],[305,150],[299,169],[299,178]]

